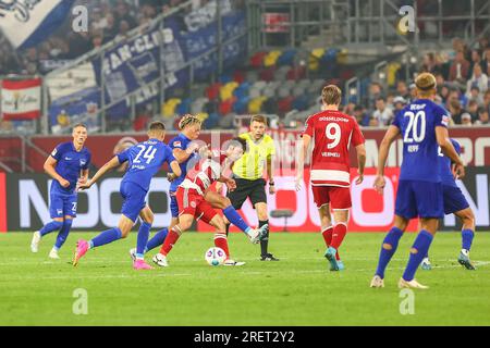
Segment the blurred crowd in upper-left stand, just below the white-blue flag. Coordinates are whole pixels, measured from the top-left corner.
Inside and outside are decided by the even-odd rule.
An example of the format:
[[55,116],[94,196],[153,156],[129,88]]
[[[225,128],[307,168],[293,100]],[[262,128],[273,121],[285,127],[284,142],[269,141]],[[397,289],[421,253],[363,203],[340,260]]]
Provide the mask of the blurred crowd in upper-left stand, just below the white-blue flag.
[[[135,27],[148,24],[183,2],[185,0],[78,0],[76,4],[88,9],[88,32],[75,33],[70,21],[66,21],[38,47],[19,52],[0,34],[0,75],[46,73],[45,62],[76,59],[118,37],[125,37]],[[201,2],[205,1],[196,0],[195,5]]]

